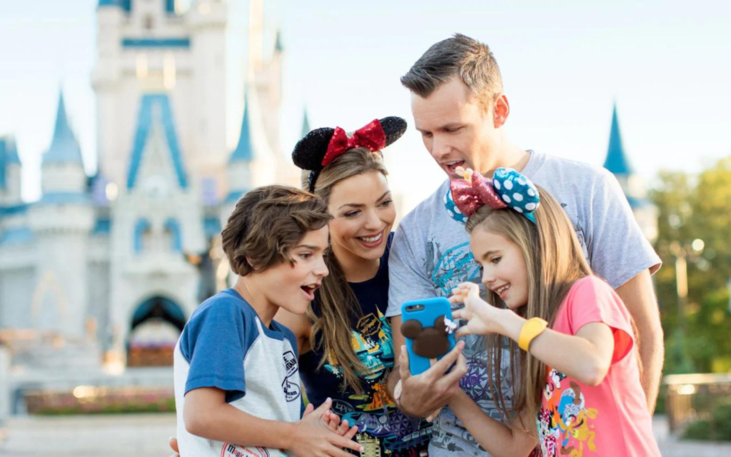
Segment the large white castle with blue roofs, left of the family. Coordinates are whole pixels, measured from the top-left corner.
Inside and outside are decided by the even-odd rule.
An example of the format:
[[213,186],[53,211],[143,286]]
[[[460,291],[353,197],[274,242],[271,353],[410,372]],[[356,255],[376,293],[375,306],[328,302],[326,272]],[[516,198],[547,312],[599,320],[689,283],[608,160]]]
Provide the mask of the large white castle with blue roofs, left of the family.
[[187,318],[225,284],[216,242],[238,197],[298,184],[279,145],[281,38],[266,42],[262,0],[248,3],[233,150],[221,0],[184,12],[174,0],[99,0],[96,175],[61,93],[36,202],[21,200],[15,141],[0,137],[0,347],[24,367],[13,373],[170,364]]

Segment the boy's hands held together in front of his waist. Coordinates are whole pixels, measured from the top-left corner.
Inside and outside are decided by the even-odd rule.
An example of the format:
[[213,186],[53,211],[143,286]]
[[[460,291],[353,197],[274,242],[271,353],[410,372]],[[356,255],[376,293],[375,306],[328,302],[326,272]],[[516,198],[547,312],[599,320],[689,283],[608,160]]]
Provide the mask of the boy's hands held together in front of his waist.
[[[352,440],[357,427],[348,428],[346,420],[340,422],[333,431],[333,413],[330,412],[331,399],[327,399],[317,409],[305,409],[302,419],[295,424],[295,433],[292,436],[289,450],[299,457],[333,456],[349,457],[350,454],[342,450],[343,447],[363,452],[363,447]],[[309,405],[308,405],[309,407]],[[335,415],[337,417],[337,415]]]

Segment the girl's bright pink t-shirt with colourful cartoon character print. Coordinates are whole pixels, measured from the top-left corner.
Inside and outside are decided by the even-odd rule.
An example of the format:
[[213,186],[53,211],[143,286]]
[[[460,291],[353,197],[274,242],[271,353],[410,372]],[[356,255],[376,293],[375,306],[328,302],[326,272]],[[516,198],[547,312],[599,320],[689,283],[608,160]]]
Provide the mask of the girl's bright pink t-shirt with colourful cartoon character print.
[[551,328],[575,335],[591,322],[604,322],[612,330],[612,365],[596,387],[548,368],[536,418],[543,456],[659,456],[629,312],[609,284],[596,276],[572,286]]

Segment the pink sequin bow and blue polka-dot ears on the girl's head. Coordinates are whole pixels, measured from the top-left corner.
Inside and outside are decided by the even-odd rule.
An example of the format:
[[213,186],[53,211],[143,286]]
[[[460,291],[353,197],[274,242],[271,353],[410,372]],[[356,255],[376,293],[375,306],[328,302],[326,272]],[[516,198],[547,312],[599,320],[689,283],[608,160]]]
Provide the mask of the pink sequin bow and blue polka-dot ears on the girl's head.
[[450,192],[444,197],[447,212],[459,222],[466,222],[483,205],[493,209],[511,208],[535,224],[534,211],[540,204],[538,189],[525,175],[512,168],[500,167],[493,178],[482,177],[469,168],[458,168],[464,179],[450,181]]

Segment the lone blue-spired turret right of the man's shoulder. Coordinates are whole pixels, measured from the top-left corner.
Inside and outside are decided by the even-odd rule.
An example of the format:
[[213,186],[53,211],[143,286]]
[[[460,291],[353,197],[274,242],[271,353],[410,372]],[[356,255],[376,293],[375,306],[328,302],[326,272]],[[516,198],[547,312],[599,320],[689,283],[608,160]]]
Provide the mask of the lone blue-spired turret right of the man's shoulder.
[[605,159],[604,167],[616,176],[629,202],[629,206],[635,214],[637,223],[640,224],[640,228],[648,240],[651,242],[654,241],[657,238],[657,208],[647,198],[643,179],[635,173],[624,151],[622,137],[619,131],[617,105],[614,105],[612,113],[609,147],[607,148],[607,158]]

